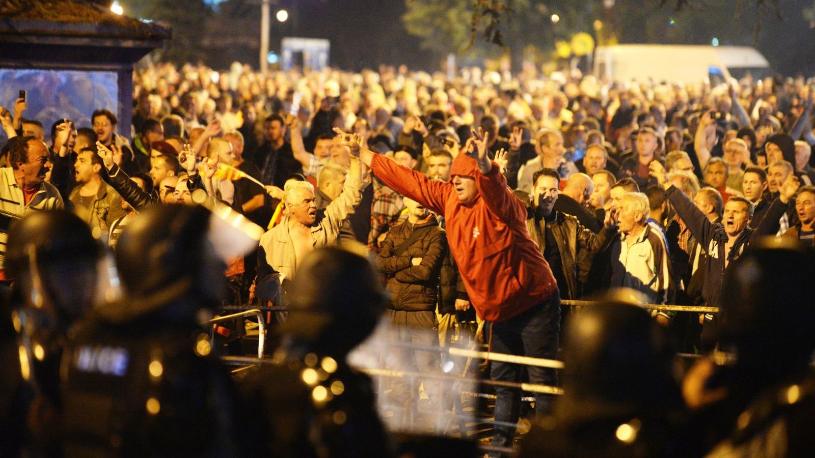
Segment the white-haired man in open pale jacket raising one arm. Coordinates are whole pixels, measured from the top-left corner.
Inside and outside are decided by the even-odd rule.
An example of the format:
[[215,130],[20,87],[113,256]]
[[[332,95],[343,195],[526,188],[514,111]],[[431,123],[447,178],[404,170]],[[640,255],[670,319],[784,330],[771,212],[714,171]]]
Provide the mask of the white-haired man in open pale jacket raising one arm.
[[[264,291],[276,292],[269,283],[290,279],[297,271],[297,263],[318,247],[333,244],[340,234],[342,223],[353,214],[362,200],[366,186],[361,181],[359,159],[352,157],[350,172],[342,186],[342,192],[324,210],[318,210],[314,187],[311,183],[289,180],[284,187],[286,214],[280,224],[260,239],[258,249],[258,275],[256,296],[262,301],[275,301],[277,297],[265,297]],[[278,304],[279,305],[279,304]]]

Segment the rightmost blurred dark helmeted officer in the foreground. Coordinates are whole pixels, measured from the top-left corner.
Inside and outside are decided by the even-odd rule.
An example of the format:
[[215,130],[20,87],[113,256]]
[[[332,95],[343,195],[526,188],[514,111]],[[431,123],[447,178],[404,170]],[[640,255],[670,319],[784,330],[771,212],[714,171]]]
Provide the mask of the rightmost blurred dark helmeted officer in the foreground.
[[718,351],[682,389],[709,456],[815,454],[815,261],[795,243],[762,240],[725,273]]

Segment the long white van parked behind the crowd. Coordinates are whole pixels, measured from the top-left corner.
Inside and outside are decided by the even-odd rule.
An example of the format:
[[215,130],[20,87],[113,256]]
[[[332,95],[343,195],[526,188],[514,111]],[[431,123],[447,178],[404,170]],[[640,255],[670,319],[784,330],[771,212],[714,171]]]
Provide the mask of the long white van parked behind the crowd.
[[749,46],[616,45],[594,51],[593,73],[608,81],[681,81],[716,85],[750,73],[772,76],[759,51]]

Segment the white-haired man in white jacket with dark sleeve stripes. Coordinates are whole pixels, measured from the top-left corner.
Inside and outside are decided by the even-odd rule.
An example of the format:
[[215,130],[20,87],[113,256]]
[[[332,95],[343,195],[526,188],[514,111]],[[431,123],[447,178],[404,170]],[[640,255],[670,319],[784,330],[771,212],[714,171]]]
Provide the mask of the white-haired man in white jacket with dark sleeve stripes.
[[[645,294],[650,304],[670,304],[674,297],[671,260],[659,230],[648,223],[648,197],[626,192],[619,200],[617,221],[620,238],[611,246],[612,288],[632,288]],[[672,314],[660,311],[659,324],[670,323]]]

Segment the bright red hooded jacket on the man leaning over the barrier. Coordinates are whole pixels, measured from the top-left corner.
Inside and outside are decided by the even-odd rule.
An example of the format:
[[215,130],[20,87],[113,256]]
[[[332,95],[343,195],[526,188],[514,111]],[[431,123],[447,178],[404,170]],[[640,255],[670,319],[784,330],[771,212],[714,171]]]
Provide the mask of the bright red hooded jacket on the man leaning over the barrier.
[[507,187],[493,163],[488,174],[465,154],[456,156],[452,175],[475,179],[478,196],[464,205],[452,183],[431,180],[374,155],[371,169],[382,183],[443,215],[450,251],[478,316],[504,321],[551,297],[552,270],[526,229],[526,207]]

